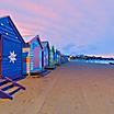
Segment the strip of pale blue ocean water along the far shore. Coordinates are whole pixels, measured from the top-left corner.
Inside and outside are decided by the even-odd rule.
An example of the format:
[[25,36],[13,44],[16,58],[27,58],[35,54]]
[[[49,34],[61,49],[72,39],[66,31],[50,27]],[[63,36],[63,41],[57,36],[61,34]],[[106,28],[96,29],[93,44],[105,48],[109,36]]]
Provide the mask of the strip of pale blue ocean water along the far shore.
[[114,64],[114,60],[84,60],[84,59],[75,59],[72,61],[94,62],[94,64],[110,64],[110,62],[113,62]]

